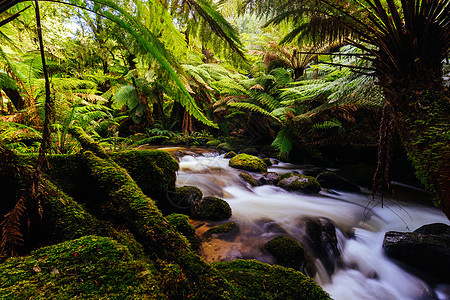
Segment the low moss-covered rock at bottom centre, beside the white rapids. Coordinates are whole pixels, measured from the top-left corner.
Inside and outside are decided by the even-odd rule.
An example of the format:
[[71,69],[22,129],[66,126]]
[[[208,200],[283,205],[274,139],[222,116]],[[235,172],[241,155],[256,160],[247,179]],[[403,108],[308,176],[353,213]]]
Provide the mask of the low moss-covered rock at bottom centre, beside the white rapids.
[[236,286],[241,299],[331,299],[308,276],[282,266],[270,266],[255,260],[235,260],[212,264]]

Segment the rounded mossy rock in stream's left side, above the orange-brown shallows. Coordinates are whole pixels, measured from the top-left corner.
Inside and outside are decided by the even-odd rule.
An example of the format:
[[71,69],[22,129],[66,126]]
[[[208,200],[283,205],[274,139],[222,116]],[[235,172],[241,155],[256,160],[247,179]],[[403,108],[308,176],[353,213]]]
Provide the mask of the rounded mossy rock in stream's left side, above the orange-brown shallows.
[[220,198],[205,197],[192,209],[192,217],[198,220],[226,220],[231,217],[231,207]]

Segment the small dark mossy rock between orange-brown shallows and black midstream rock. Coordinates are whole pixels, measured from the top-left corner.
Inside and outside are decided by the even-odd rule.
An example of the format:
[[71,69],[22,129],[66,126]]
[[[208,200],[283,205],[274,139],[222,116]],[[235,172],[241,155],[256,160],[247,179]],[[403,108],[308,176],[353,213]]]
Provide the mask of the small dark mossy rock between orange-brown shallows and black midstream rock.
[[301,271],[305,263],[305,250],[295,240],[280,236],[269,241],[264,248],[272,254],[277,263]]

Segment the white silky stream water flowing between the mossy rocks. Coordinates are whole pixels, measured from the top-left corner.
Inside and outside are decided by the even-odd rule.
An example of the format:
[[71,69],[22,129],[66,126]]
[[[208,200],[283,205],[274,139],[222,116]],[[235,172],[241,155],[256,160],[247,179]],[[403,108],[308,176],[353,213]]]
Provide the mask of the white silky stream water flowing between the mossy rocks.
[[[322,190],[310,196],[270,185],[252,188],[239,178],[241,171],[228,167],[229,160],[223,155],[185,155],[179,160],[177,185],[194,185],[204,196],[227,201],[233,210],[232,221],[240,228],[226,240],[213,239],[204,244],[205,260],[254,258],[273,263],[263,251],[267,241],[288,235],[304,244],[304,220],[329,220],[336,226],[335,252],[340,258],[333,262],[313,257],[309,275],[333,299],[450,299],[450,285],[430,287],[382,250],[387,231],[413,231],[429,223],[450,224],[439,210],[392,199],[384,199],[382,208],[380,199],[373,199],[369,193]],[[281,162],[269,168],[278,174],[294,170],[302,173],[305,168]]]

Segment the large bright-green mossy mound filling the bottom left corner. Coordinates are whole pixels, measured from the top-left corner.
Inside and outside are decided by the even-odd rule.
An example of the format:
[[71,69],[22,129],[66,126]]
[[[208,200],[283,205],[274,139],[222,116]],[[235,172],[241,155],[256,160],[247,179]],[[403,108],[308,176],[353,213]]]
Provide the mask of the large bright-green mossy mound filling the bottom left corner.
[[85,236],[0,264],[1,299],[164,299],[156,269],[126,246]]

